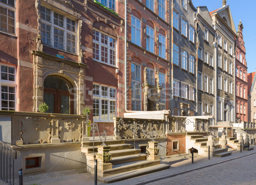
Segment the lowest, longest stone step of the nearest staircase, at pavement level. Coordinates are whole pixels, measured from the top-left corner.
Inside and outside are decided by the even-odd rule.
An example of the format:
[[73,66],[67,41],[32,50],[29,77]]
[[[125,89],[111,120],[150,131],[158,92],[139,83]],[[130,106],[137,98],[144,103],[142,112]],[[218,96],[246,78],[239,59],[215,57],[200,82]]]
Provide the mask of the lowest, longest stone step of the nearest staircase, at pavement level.
[[130,178],[133,178],[136,176],[142,176],[142,175],[146,175],[149,173],[166,170],[169,168],[170,168],[170,165],[166,165],[166,164],[154,165],[154,166],[145,167],[145,168],[141,168],[141,169],[137,169],[137,170],[127,171],[127,172],[123,172],[123,173],[117,173],[115,175],[110,175],[110,176],[105,176],[105,177],[98,176],[98,180],[103,181],[105,183],[117,182],[117,181],[121,181],[121,180],[125,180],[125,179],[130,179]]

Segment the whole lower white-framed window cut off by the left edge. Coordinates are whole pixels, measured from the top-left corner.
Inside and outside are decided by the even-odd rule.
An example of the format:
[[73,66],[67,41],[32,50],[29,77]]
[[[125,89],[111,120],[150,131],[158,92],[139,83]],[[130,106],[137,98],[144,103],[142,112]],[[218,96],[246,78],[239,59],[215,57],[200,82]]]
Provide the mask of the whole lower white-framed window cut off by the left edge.
[[1,110],[15,110],[15,67],[1,65],[0,68]]

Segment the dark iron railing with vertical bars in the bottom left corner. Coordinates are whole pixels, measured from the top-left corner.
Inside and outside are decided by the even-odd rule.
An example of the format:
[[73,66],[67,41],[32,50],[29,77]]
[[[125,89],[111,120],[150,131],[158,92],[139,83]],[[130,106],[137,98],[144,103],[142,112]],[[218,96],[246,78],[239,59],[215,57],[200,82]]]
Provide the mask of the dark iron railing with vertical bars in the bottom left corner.
[[17,159],[17,152],[0,141],[0,179],[9,184],[14,184],[14,159]]

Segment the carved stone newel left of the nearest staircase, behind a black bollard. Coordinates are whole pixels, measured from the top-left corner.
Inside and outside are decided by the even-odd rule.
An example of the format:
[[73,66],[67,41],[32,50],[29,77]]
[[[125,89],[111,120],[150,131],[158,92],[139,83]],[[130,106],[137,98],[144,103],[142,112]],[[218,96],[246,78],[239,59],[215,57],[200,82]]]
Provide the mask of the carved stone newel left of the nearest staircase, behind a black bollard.
[[111,154],[109,153],[109,145],[98,145],[98,153],[96,159],[98,160],[98,170],[112,169]]

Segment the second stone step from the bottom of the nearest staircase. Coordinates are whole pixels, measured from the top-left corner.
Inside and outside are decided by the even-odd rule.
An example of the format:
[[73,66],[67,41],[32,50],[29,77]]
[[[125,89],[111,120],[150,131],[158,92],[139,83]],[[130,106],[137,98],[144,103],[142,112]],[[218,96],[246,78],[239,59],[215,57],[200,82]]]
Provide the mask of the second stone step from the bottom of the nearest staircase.
[[[113,165],[112,169],[108,169],[104,171],[98,170],[97,173],[99,176],[109,176],[117,173],[140,169],[140,168],[146,168],[149,166],[160,165],[160,161],[161,160],[159,159],[155,161],[143,160],[143,161],[136,161],[136,162],[128,162],[128,163],[123,163],[119,165]],[[94,175],[94,170],[92,170],[91,173]]]

